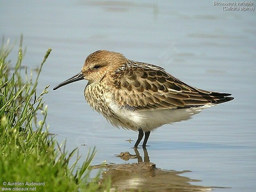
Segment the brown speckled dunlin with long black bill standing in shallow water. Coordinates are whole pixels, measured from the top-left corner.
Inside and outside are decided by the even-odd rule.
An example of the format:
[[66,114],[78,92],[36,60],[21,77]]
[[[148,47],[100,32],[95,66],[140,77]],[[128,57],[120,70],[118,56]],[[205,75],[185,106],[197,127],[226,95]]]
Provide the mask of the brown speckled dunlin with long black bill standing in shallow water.
[[115,127],[139,132],[135,148],[144,133],[142,147],[146,148],[150,131],[157,127],[190,119],[205,108],[234,99],[229,93],[192,87],[160,66],[107,50],[90,54],[81,72],[53,90],[84,79],[88,80],[84,96],[92,109]]

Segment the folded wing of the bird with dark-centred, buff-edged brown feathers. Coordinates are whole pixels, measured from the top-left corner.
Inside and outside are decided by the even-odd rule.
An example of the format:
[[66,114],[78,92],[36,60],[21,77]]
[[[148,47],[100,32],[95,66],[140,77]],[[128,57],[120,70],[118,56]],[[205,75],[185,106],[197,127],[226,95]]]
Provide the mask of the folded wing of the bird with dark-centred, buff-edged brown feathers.
[[[115,73],[113,90],[116,102],[136,110],[179,109],[218,104],[231,94],[192,87],[167,73],[162,67],[128,61]],[[131,65],[132,64],[132,65]]]

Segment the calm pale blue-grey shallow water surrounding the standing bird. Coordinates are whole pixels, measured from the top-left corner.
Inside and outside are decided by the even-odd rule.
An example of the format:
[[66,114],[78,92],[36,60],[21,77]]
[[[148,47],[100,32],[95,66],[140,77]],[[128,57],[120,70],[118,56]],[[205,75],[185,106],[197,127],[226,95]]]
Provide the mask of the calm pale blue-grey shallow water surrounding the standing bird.
[[[48,47],[53,49],[38,88],[51,84],[44,97],[47,122],[59,141],[67,139],[69,151],[79,146],[84,158],[96,146],[92,165],[138,161],[114,155],[134,154],[134,141],[125,140],[136,140],[137,133],[112,127],[90,109],[83,96],[86,81],[52,91],[81,70],[89,53],[112,50],[161,65],[190,85],[235,97],[192,120],[158,128],[148,141],[150,162],[179,173],[190,170],[181,176],[192,185],[230,187],[215,191],[256,188],[255,12],[223,12],[212,1],[1,1],[0,12],[1,35],[12,42],[24,35],[23,65],[35,68]],[[17,46],[14,50],[13,62]]]

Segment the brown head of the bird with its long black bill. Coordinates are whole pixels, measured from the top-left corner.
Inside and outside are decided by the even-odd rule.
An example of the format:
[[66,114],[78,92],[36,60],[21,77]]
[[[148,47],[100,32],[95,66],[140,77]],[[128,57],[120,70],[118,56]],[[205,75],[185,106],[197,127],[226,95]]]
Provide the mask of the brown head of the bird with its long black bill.
[[113,73],[118,67],[127,61],[121,53],[107,50],[98,50],[91,53],[84,61],[82,71],[61,82],[53,88],[56,90],[69,83],[88,80],[90,83],[99,82],[105,75]]

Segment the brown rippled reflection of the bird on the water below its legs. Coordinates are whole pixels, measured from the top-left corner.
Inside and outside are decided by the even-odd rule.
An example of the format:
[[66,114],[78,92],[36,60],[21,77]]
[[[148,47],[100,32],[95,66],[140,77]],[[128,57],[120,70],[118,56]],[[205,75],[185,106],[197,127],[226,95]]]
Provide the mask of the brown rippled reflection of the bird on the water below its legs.
[[[190,171],[173,171],[156,168],[149,162],[148,151],[143,149],[144,161],[139,151],[134,149],[135,155],[121,152],[117,157],[124,160],[137,158],[138,163],[113,164],[105,166],[102,180],[111,178],[112,188],[117,191],[206,191],[212,187],[192,185],[190,182],[200,181],[180,176],[181,173]],[[99,168],[99,166],[96,165]],[[101,167],[102,168],[102,167]]]

